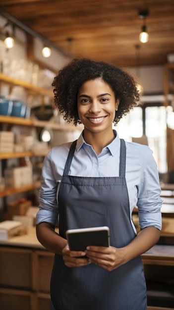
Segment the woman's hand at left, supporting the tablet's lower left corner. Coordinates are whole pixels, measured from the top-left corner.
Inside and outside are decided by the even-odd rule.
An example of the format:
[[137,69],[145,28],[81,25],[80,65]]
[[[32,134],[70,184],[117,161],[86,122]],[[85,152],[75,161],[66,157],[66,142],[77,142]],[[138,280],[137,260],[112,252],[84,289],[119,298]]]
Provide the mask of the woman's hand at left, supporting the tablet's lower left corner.
[[91,263],[89,258],[83,258],[86,253],[82,251],[70,251],[68,245],[62,250],[62,258],[67,267],[81,267]]

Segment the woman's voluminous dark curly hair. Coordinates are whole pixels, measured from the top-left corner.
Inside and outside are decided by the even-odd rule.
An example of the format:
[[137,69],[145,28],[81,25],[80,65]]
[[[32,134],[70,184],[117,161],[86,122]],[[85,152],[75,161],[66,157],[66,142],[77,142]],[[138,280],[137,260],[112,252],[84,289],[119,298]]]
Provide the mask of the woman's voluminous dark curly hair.
[[77,110],[78,90],[83,83],[96,78],[102,78],[115,93],[116,100],[120,100],[114,119],[115,124],[139,101],[133,76],[104,61],[75,58],[58,72],[52,83],[54,105],[68,123],[72,121],[74,125],[81,123]]

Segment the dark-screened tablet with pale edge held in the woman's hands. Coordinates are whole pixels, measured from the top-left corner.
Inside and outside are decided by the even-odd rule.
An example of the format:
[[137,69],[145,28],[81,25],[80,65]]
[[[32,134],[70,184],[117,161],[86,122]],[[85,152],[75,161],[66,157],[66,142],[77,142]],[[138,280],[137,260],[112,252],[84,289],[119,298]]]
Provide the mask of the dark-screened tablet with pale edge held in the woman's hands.
[[66,238],[71,251],[85,251],[87,246],[110,246],[108,226],[69,229]]

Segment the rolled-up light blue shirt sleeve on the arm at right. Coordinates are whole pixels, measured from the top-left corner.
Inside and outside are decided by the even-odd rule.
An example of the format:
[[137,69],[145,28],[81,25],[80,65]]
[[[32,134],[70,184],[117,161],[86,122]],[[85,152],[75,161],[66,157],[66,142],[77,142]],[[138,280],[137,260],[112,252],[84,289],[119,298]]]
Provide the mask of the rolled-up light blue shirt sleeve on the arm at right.
[[154,226],[161,230],[161,207],[163,200],[160,194],[161,188],[157,164],[152,155],[152,151],[147,149],[144,163],[141,167],[141,181],[138,187],[137,207],[141,229],[147,226]]

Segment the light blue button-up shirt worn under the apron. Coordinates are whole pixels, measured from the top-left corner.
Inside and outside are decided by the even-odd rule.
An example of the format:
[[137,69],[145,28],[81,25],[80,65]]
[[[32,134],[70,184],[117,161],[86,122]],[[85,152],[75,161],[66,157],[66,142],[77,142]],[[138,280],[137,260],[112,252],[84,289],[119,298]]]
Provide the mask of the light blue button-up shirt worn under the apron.
[[[77,140],[69,175],[83,177],[119,176],[120,139],[114,141],[96,155],[91,145],[86,144],[82,133]],[[126,144],[126,183],[129,195],[130,219],[132,210],[138,207],[140,228],[154,226],[161,230],[162,199],[157,164],[152,150],[137,143]],[[58,221],[58,187],[61,182],[71,142],[54,147],[46,155],[40,188],[40,206],[36,223]],[[132,223],[132,221],[131,221]],[[136,233],[135,227],[132,227]]]

